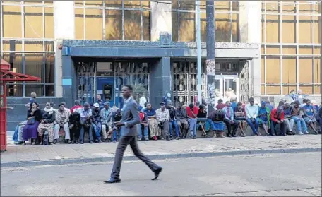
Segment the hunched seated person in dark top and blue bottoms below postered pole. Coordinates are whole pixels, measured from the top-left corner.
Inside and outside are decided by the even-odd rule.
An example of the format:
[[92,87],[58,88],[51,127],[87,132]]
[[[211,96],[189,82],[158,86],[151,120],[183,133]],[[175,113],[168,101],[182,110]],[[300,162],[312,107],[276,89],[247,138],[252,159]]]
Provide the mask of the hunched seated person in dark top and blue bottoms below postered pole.
[[225,112],[223,112],[222,109],[220,110],[214,109],[213,112],[210,112],[207,118],[211,128],[214,131],[213,138],[216,138],[217,136],[216,132],[219,132],[220,138],[225,138],[224,136]]

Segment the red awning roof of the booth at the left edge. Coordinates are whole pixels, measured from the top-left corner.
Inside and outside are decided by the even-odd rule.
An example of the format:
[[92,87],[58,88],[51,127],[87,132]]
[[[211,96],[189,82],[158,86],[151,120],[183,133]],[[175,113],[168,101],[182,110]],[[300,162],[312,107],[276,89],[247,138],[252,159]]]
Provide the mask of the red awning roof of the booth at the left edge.
[[1,59],[0,66],[0,81],[1,82],[13,82],[13,81],[37,81],[41,80],[39,77],[28,76],[20,73],[10,71],[10,64],[4,59]]

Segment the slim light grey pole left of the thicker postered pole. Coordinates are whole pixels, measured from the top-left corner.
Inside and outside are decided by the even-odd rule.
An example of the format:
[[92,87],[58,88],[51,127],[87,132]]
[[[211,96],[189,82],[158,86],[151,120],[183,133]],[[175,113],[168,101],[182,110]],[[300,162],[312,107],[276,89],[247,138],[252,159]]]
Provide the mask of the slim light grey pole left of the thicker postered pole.
[[196,0],[196,42],[197,42],[197,93],[198,101],[201,98],[201,32],[200,32],[200,1]]

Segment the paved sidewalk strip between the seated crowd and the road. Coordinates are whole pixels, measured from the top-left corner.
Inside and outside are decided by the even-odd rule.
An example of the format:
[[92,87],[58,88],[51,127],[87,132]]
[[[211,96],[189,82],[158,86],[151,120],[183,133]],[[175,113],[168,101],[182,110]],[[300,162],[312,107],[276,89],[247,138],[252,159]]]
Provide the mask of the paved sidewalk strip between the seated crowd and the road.
[[[321,151],[321,135],[198,138],[138,143],[143,153],[151,159]],[[116,147],[117,143],[8,145],[7,151],[1,153],[1,167],[108,162],[114,159]],[[124,156],[124,160],[136,160],[130,147]]]

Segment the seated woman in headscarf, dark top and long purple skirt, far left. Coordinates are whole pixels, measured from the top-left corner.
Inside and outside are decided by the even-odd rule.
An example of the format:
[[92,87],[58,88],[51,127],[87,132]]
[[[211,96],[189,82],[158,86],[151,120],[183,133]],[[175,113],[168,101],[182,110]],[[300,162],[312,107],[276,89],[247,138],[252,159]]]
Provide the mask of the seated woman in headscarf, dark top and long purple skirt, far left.
[[42,111],[39,109],[37,102],[30,103],[27,118],[27,124],[23,127],[23,145],[25,145],[25,141],[28,141],[30,138],[31,145],[35,145],[38,125],[42,120]]

